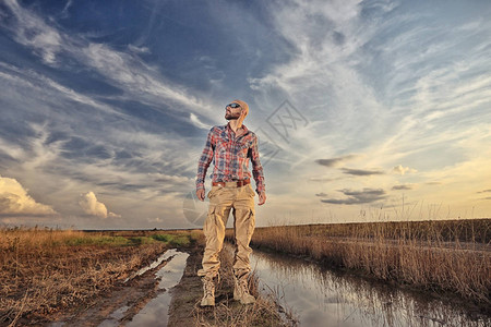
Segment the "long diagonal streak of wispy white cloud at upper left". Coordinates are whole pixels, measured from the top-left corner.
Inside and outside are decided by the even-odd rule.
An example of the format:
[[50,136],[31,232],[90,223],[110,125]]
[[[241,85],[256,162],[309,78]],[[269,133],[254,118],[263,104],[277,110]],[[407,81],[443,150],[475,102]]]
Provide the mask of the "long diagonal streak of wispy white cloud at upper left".
[[97,70],[112,85],[122,88],[125,98],[149,104],[155,110],[164,110],[160,108],[166,104],[165,110],[181,111],[184,106],[187,111],[213,112],[214,107],[201,99],[197,92],[191,93],[185,86],[167,81],[156,66],[143,62],[137,55],[146,52],[146,48],[129,46],[129,52],[117,51],[80,35],[71,36],[58,31],[15,0],[9,0],[7,5],[16,22],[5,27],[13,32],[20,44],[31,47],[46,63],[57,64],[56,56],[63,52]]

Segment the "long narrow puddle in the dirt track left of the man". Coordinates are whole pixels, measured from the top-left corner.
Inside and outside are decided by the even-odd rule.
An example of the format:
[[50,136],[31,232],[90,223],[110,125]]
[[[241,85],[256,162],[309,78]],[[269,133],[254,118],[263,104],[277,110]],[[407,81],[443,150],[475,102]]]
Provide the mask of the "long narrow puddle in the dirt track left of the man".
[[[185,268],[185,262],[189,254],[179,252],[175,249],[167,251],[157,261],[155,261],[149,267],[139,270],[134,276],[139,276],[147,271],[148,269],[157,267],[161,262],[171,257],[171,259],[155,274],[157,279],[160,279],[158,289],[163,292],[155,299],[152,299],[129,323],[124,326],[167,326],[169,318],[168,310],[171,300],[171,295],[168,290],[173,288],[181,280],[182,274]],[[122,306],[112,312],[108,319],[99,324],[99,327],[112,327],[120,326],[119,319],[124,316],[129,306]]]

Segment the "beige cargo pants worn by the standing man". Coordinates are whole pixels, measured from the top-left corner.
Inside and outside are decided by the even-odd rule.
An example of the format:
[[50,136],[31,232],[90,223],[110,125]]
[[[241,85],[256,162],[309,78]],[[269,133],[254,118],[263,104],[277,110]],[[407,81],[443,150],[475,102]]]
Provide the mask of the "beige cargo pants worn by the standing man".
[[199,276],[215,277],[218,274],[220,262],[218,253],[224,246],[225,227],[232,209],[233,231],[236,239],[236,255],[233,270],[250,271],[249,246],[255,226],[254,195],[251,184],[237,187],[237,183],[226,183],[224,186],[213,186],[208,192],[208,215],[203,232],[206,238],[206,247],[203,254],[203,269]]

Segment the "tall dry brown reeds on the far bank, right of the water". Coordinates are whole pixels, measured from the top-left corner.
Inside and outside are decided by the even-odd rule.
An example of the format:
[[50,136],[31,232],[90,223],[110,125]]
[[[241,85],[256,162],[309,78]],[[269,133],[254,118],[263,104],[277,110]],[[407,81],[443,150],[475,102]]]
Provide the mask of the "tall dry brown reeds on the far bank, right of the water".
[[[231,239],[229,230],[227,237]],[[491,219],[256,228],[252,246],[491,304]]]

